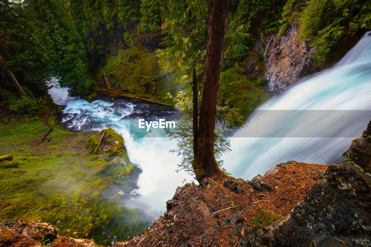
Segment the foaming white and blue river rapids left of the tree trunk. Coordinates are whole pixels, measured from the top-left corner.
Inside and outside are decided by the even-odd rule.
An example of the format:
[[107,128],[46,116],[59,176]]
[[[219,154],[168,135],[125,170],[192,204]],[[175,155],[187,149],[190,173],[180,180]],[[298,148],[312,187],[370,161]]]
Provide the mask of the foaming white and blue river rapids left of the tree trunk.
[[141,207],[140,204],[133,201],[128,202],[128,206],[141,207],[148,213],[158,216],[161,210],[166,210],[165,201],[173,197],[175,188],[182,185],[184,179],[186,181],[193,180],[185,172],[174,171],[180,161],[179,157],[168,152],[176,146],[174,140],[170,141],[167,137],[130,137],[130,121],[125,116],[133,113],[153,113],[154,111],[158,111],[155,115],[162,116],[166,115],[168,111],[161,110],[160,107],[148,109],[154,105],[144,103],[139,105],[125,100],[117,100],[112,103],[108,99],[100,99],[89,103],[78,97],[67,96],[67,90],[58,85],[52,89],[49,90],[49,93],[54,102],[67,105],[62,114],[62,122],[65,122],[67,128],[73,131],[101,131],[111,127],[124,138],[129,159],[142,169],[138,180],[139,189],[134,191],[140,196],[134,198],[151,205],[153,210],[148,212],[145,205]]

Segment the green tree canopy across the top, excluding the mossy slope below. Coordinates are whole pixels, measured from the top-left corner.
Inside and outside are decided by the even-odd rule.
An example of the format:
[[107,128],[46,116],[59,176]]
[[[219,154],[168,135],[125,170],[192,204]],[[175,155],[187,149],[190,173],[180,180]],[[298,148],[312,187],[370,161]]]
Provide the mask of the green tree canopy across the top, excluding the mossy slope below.
[[[185,69],[190,75],[204,61],[209,4],[207,0],[0,0],[0,31],[6,37],[0,43],[4,58],[0,80],[10,81],[3,69],[7,66],[33,92],[41,93],[47,80],[58,78],[71,95],[86,95],[101,79],[95,78],[97,68],[112,47],[127,49],[142,36],[156,35],[162,45],[157,51],[160,67]],[[232,0],[222,73],[248,56],[259,32],[283,35],[293,22],[298,24],[299,39],[316,48],[313,58],[325,66],[324,61],[344,46],[344,37],[359,37],[371,28],[370,13],[371,3],[365,0]]]

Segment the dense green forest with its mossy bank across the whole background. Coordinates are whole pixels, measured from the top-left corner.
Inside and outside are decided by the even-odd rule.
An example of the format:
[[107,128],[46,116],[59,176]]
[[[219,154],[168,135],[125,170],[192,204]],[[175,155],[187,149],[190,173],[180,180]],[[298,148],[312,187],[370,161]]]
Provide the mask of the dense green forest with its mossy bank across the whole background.
[[[18,96],[4,67],[13,71],[29,95],[42,94],[45,82],[58,78],[70,95],[88,97],[106,75],[112,83],[108,86],[168,103],[164,98],[171,86],[148,82],[167,73],[174,93],[174,81],[187,88],[193,67],[202,78],[209,1],[1,0],[0,4],[0,80],[2,90],[11,92],[1,95],[20,114],[35,112],[37,105]],[[292,22],[298,23],[299,39],[316,47],[313,59],[324,68],[349,49],[352,39],[370,29],[369,12],[369,1],[232,1],[220,104],[251,111],[264,100],[264,56],[249,53],[259,32],[282,35]],[[253,78],[244,76],[249,56],[260,71]],[[245,92],[236,92],[232,82],[251,91],[252,105],[241,100]]]

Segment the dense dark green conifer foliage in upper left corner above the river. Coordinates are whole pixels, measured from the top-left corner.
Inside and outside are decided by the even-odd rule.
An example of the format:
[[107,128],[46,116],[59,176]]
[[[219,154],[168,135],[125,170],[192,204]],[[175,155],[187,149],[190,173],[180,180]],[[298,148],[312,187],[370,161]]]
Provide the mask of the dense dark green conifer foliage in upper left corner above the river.
[[1,5],[0,30],[16,45],[9,50],[12,59],[6,66],[14,69],[22,85],[44,89],[45,80],[60,78],[71,95],[88,93],[85,49],[72,19],[62,2],[27,0]]

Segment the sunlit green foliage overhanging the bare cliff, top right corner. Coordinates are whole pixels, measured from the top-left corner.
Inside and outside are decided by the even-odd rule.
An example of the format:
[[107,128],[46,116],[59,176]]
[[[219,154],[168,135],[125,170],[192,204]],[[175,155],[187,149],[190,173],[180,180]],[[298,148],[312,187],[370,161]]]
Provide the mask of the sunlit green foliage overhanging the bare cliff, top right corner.
[[279,33],[284,33],[294,20],[300,25],[299,39],[310,40],[311,47],[316,48],[316,62],[323,66],[326,56],[338,46],[343,35],[371,28],[371,2],[312,0],[306,1],[303,7],[297,1],[289,0],[283,8]]

